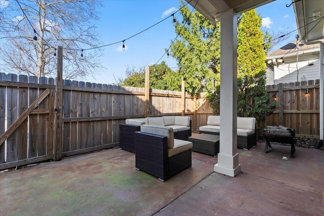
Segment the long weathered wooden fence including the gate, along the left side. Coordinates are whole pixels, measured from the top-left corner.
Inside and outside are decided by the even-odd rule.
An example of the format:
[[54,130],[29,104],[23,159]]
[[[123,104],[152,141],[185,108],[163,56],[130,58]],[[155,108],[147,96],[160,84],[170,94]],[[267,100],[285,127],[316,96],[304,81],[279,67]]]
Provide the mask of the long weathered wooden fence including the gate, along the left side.
[[118,146],[126,118],[184,114],[198,128],[212,114],[206,98],[184,92],[61,83],[57,96],[53,78],[0,73],[0,170]]

